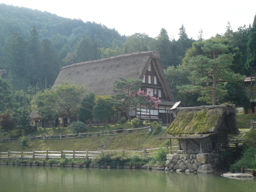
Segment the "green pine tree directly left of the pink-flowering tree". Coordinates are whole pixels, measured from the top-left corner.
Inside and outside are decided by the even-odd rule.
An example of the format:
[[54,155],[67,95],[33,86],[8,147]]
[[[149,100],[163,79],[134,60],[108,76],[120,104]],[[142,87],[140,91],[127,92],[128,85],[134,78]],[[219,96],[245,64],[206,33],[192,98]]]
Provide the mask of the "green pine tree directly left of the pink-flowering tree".
[[116,93],[113,98],[115,101],[115,107],[125,111],[128,119],[131,120],[129,111],[134,108],[131,104],[133,96],[131,93],[135,93],[141,87],[141,79],[126,79],[119,77],[119,80],[114,82],[113,91]]

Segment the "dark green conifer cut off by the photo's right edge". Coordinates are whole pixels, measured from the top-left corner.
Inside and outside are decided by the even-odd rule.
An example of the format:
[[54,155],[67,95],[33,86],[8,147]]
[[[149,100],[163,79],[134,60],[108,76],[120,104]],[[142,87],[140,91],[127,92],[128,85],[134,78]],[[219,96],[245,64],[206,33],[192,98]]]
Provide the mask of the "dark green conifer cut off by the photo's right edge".
[[245,67],[252,74],[255,73],[256,67],[256,15],[253,20],[253,27],[250,29],[250,35],[247,42],[247,61]]

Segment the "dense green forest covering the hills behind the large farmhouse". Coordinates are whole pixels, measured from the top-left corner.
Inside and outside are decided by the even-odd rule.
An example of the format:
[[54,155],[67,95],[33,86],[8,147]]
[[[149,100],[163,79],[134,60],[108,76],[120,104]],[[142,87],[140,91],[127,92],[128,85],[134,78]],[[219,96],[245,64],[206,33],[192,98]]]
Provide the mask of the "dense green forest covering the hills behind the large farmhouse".
[[177,40],[163,28],[155,38],[124,36],[99,23],[5,4],[0,4],[0,24],[0,75],[8,77],[0,81],[0,111],[29,106],[36,93],[52,86],[60,67],[149,50],[160,52],[172,93],[183,105],[209,105],[215,96],[214,105],[249,108],[242,79],[255,73],[255,18],[253,26],[234,31],[227,23],[223,35],[207,40],[203,30],[198,39],[188,38],[182,23]]

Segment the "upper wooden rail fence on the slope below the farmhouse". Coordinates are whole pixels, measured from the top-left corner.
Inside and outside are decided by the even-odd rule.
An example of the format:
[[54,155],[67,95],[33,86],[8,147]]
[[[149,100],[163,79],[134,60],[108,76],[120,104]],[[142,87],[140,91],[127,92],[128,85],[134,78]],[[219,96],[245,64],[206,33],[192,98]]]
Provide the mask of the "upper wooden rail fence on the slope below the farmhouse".
[[[93,133],[78,133],[78,134],[59,134],[59,135],[42,135],[37,137],[27,137],[29,141],[38,141],[38,140],[55,140],[55,139],[71,139],[71,138],[84,138],[84,137],[102,137],[102,136],[109,136],[109,135],[119,135],[119,134],[134,134],[134,133],[141,133],[151,131],[151,127],[143,127],[143,128],[134,128],[134,129],[118,129],[118,130],[111,130],[111,131],[103,131],[100,132],[93,132]],[[20,141],[20,138],[4,138],[0,139],[0,143],[10,143]]]

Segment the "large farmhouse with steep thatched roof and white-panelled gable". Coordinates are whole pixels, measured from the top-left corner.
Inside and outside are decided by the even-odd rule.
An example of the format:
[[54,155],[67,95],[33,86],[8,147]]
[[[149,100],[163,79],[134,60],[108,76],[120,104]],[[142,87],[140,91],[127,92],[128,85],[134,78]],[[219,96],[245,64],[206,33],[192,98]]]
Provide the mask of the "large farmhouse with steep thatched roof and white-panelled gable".
[[[52,88],[63,81],[71,81],[74,84],[86,85],[88,90],[85,94],[94,92],[96,95],[113,95],[114,81],[119,77],[143,79],[141,90],[150,89],[151,94],[160,98],[159,109],[150,110],[148,114],[145,111],[140,114],[131,111],[131,117],[143,120],[148,115],[153,120],[168,123],[169,110],[175,104],[175,99],[159,59],[159,52],[148,51],[72,64],[61,68]],[[116,120],[123,115],[125,114],[119,111]]]

